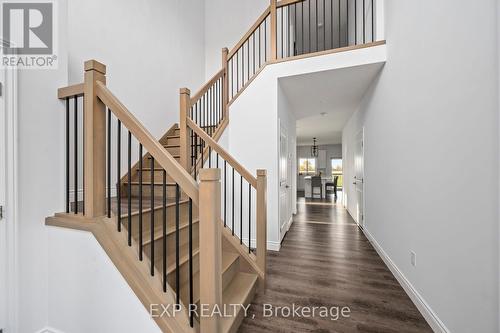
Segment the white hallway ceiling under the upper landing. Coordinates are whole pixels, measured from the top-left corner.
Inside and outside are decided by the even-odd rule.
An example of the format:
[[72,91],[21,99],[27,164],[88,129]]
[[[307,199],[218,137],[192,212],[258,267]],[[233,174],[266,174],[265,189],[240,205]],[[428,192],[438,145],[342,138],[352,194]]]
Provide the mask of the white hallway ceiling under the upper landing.
[[[289,76],[279,84],[297,118],[297,144],[342,142],[342,129],[383,64]],[[322,115],[324,113],[324,115]]]

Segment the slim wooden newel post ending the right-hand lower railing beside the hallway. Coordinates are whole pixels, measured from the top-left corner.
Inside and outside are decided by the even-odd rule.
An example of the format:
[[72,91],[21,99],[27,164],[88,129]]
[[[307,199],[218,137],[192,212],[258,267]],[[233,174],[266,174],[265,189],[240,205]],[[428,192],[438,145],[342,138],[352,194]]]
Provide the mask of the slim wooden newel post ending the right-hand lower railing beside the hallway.
[[[257,170],[257,265],[266,276],[267,256],[267,171]],[[259,288],[263,291],[266,281],[260,279]]]

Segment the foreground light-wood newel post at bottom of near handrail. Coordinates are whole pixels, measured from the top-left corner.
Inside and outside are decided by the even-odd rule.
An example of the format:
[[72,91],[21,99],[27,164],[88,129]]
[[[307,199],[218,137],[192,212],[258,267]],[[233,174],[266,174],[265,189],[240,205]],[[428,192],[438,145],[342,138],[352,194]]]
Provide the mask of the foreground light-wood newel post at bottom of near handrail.
[[[200,305],[212,313],[222,305],[222,232],[220,169],[200,170]],[[202,333],[221,332],[219,316],[200,313]]]

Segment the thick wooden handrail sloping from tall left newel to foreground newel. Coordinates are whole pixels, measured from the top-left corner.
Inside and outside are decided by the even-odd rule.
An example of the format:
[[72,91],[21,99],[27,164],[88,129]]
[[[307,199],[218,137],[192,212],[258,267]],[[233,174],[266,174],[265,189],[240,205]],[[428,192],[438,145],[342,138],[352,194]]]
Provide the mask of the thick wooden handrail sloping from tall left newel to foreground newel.
[[97,82],[97,97],[113,112],[122,124],[134,135],[144,148],[164,168],[168,175],[179,184],[182,190],[199,204],[198,184],[193,177],[184,170],[167,150],[149,133],[149,131],[134,117],[134,115],[116,98],[101,82]]

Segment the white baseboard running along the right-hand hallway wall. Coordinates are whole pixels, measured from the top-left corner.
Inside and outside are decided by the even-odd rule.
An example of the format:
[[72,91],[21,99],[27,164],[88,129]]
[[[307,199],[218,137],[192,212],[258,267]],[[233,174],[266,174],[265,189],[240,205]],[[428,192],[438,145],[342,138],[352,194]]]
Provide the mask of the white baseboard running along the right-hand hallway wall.
[[399,284],[403,287],[404,291],[408,294],[412,302],[415,304],[417,309],[420,311],[422,316],[425,318],[429,326],[436,333],[450,333],[450,330],[444,325],[444,323],[439,319],[437,314],[431,309],[429,304],[424,300],[422,295],[413,287],[410,281],[404,276],[403,272],[399,270],[392,259],[387,255],[387,253],[382,249],[380,244],[373,238],[370,232],[364,228],[362,229],[366,238],[370,241],[372,246],[375,248],[379,256],[382,258],[384,263],[389,267],[392,274],[396,277]]

